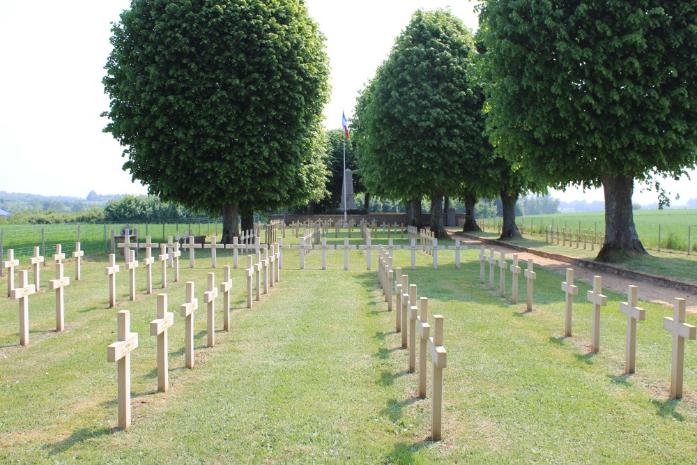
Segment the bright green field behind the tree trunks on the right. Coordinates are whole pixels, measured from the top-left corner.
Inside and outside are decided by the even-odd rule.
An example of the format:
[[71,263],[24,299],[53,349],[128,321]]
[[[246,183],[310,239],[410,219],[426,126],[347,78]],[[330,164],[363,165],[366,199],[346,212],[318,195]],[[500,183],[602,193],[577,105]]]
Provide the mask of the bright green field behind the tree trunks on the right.
[[[482,220],[487,231],[500,227],[501,218]],[[605,213],[556,213],[554,215],[528,215],[517,218],[519,227],[523,224],[523,235],[544,236],[544,227],[581,229],[598,234],[605,231]],[[697,210],[635,210],[634,225],[641,243],[647,249],[673,250],[687,253],[697,252]]]

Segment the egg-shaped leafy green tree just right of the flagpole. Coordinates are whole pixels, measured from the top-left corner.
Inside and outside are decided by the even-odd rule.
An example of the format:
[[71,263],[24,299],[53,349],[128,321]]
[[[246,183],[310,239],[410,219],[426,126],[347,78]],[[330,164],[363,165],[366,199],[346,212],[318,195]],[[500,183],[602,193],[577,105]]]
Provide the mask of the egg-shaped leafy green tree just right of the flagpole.
[[484,156],[482,106],[468,79],[474,53],[471,31],[450,11],[418,10],[355,107],[363,184],[381,198],[430,197],[436,237],[447,235],[443,197]]

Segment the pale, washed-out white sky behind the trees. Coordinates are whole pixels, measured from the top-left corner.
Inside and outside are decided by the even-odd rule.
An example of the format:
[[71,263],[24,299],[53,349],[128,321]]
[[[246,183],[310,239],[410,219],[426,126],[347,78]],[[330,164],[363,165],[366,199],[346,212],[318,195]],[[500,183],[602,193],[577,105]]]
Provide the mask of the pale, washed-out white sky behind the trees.
[[[355,98],[418,8],[450,6],[477,28],[467,0],[306,0],[326,36],[332,68],[325,125],[341,127]],[[110,22],[130,0],[2,0],[0,2],[0,190],[86,197],[145,194],[121,168],[123,147],[102,132],[109,99],[101,83],[111,51]],[[693,177],[696,174],[693,173]],[[697,197],[689,181],[662,183],[680,204]],[[602,190],[554,192],[562,200],[602,200]],[[655,193],[635,189],[634,201],[652,204]]]

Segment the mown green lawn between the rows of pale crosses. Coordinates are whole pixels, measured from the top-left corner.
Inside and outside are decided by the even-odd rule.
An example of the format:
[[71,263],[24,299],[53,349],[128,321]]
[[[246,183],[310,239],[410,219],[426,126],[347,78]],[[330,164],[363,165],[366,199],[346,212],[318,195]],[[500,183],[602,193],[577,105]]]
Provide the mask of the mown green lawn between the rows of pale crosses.
[[[332,236],[332,235],[330,235]],[[294,240],[286,234],[286,241]],[[328,238],[328,242],[342,239]],[[360,239],[352,239],[358,243]],[[379,240],[385,242],[386,240]],[[378,242],[374,239],[374,243]],[[406,243],[395,241],[396,243]],[[231,264],[229,252],[219,254]],[[181,282],[169,284],[171,390],[155,392],[153,296],[137,300],[118,275],[118,305],[107,309],[105,259],[90,257],[83,280],[66,290],[66,331],[56,334],[54,296],[31,296],[30,345],[18,346],[17,303],[0,297],[0,462],[3,463],[528,463],[689,462],[697,440],[697,349],[687,344],[685,397],[669,400],[671,337],[661,319],[671,309],[641,302],[637,373],[622,375],[625,296],[608,294],[602,351],[588,354],[590,284],[577,282],[574,337],[563,334],[561,276],[537,269],[535,311],[523,312],[525,287],[512,305],[479,283],[477,251],[441,251],[438,270],[418,253],[395,252],[429,314],[445,318],[443,441],[429,441],[429,398],[415,397],[418,374],[406,372],[394,314],[376,289],[365,254],[306,257],[284,251],[282,280],[252,310],[243,270],[233,270],[232,328],[206,349],[205,308],[195,316],[194,369],[183,368],[178,306],[194,280],[202,299],[210,261],[182,261]],[[66,274],[72,273],[70,264]],[[159,268],[154,275],[159,284]],[[52,276],[47,271],[43,280]],[[171,280],[171,273],[169,275]],[[498,273],[496,274],[498,283]],[[0,280],[3,289],[4,280]],[[507,277],[510,289],[510,275]],[[507,291],[510,294],[510,290]],[[1,295],[1,294],[0,294]],[[641,285],[640,285],[641,297]],[[133,425],[116,426],[116,366],[106,346],[116,340],[116,311],[130,310],[139,347],[132,356]],[[688,322],[696,323],[694,315]]]

